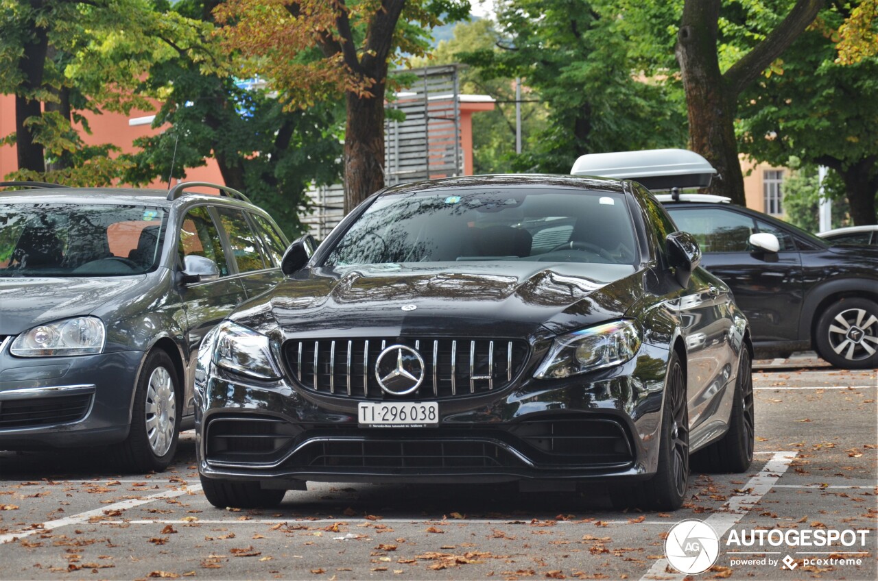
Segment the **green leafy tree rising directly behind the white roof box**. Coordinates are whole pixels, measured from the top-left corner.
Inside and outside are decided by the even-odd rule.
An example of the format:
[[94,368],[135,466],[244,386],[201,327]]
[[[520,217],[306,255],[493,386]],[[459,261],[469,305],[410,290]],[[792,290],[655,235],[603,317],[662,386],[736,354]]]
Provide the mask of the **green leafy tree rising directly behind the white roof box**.
[[547,126],[515,169],[569,173],[581,154],[679,147],[679,92],[666,75],[635,68],[617,3],[508,0],[498,5],[494,48],[462,54],[485,78],[521,76],[548,105]]

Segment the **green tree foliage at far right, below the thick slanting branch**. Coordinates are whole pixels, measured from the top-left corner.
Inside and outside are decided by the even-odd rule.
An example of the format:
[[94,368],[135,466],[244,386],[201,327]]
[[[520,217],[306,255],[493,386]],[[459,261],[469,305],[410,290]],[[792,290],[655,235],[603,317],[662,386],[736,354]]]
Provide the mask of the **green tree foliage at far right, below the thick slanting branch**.
[[741,148],[781,165],[793,155],[844,183],[855,225],[875,224],[878,197],[878,56],[836,61],[832,31],[849,15],[832,8],[789,47],[782,74],[763,77],[740,105]]

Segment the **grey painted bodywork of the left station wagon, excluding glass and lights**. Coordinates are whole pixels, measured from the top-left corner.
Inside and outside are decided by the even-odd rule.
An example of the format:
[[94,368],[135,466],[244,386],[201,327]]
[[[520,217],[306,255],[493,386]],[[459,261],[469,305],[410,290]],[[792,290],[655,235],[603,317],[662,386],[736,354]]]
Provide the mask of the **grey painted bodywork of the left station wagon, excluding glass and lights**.
[[[69,448],[112,444],[126,439],[131,426],[133,386],[147,355],[166,351],[184,379],[183,427],[194,422],[193,374],[204,335],[248,297],[280,281],[279,265],[200,282],[185,281],[177,255],[178,233],[186,212],[198,205],[227,205],[255,212],[252,204],[227,197],[187,194],[166,199],[162,190],[41,190],[43,204],[144,204],[164,208],[169,235],[162,241],[158,268],[135,276],[0,277],[0,406],[64,394],[90,394],[81,420],[38,427],[0,427],[0,449]],[[0,204],[32,204],[32,193],[5,192]],[[275,225],[277,226],[277,225]],[[228,252],[227,255],[231,255]],[[10,345],[34,326],[92,315],[104,321],[100,355],[17,357]]]

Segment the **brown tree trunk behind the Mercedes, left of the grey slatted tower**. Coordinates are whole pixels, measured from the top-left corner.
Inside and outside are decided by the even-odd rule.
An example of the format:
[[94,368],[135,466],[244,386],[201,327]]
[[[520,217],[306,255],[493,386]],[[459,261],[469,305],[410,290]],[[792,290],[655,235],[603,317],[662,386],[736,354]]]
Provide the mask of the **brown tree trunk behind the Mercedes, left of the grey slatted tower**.
[[348,126],[344,133],[344,213],[384,187],[384,97],[386,71],[372,85],[374,97],[345,94]]

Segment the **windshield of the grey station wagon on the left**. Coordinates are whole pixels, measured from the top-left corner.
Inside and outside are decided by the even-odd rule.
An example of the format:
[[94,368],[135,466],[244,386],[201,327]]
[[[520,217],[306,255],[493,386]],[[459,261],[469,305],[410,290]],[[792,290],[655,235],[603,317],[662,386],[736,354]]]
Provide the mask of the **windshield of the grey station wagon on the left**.
[[156,268],[161,208],[0,204],[0,276],[130,276]]

